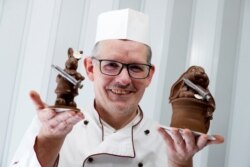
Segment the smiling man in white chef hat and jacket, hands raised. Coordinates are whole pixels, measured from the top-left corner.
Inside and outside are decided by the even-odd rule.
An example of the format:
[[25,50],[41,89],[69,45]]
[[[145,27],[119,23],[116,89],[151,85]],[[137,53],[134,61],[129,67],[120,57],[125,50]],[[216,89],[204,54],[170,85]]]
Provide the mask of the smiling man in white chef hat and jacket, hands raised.
[[196,152],[223,142],[188,129],[168,134],[143,115],[139,102],[155,71],[147,27],[131,9],[100,15],[93,54],[84,59],[93,104],[58,113],[31,91],[40,124],[34,120],[12,166],[190,167]]

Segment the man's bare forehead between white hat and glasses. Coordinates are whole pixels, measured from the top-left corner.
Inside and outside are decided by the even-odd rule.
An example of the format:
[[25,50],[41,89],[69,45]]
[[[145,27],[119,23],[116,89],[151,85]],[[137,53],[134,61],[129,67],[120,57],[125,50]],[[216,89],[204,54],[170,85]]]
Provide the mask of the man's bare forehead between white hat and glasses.
[[148,48],[142,43],[130,40],[105,40],[100,42],[97,55],[103,59],[145,63]]

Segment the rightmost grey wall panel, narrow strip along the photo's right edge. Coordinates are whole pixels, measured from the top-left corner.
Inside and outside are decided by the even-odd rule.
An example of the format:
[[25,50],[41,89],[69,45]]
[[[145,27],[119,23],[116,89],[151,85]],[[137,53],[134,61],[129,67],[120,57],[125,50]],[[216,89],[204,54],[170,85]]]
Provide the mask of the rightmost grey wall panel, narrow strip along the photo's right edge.
[[234,93],[232,96],[232,108],[230,109],[230,120],[228,126],[227,156],[226,165],[233,166],[250,166],[250,1],[244,0],[241,3],[241,18],[239,26],[239,45],[236,60],[236,72],[234,77]]

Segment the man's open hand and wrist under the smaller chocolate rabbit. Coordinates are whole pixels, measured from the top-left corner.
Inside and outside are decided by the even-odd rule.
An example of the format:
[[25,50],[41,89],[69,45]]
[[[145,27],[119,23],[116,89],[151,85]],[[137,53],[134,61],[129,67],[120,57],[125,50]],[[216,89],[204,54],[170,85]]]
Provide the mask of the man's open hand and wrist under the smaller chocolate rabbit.
[[84,118],[84,115],[82,112],[56,112],[49,109],[35,91],[30,92],[30,97],[42,124],[36,137],[34,150],[41,166],[53,167],[66,135]]

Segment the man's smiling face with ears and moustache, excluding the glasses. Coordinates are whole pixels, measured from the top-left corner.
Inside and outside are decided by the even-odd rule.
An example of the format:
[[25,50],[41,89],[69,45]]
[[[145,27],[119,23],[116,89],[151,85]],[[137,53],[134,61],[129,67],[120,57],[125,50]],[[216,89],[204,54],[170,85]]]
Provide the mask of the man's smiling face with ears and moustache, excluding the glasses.
[[[129,40],[102,41],[95,53],[98,59],[114,60],[124,64],[147,62],[148,48],[141,43]],[[146,87],[150,84],[154,66],[145,79],[134,79],[124,67],[117,76],[108,76],[100,71],[100,62],[87,58],[84,61],[90,80],[94,83],[95,102],[98,112],[109,115],[131,115],[136,112]]]

